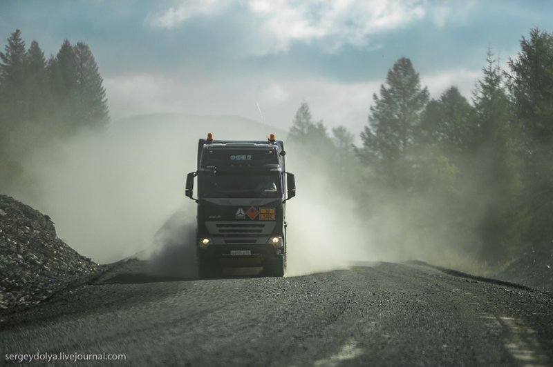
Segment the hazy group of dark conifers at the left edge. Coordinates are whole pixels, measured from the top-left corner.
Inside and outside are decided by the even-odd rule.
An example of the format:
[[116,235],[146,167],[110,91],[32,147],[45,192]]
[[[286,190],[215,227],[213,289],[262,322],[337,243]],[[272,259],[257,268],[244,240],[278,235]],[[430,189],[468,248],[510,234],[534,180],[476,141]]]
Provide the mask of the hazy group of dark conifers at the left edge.
[[81,128],[109,124],[106,90],[86,43],[67,39],[46,59],[15,30],[0,52],[0,188],[21,173],[29,153]]

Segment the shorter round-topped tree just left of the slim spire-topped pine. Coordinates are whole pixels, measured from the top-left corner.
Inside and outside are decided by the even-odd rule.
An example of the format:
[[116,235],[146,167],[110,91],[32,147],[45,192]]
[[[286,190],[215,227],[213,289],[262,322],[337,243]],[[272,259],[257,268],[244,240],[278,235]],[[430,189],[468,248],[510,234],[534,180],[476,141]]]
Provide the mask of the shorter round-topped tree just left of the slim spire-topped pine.
[[473,230],[469,212],[474,192],[467,192],[467,181],[474,167],[478,123],[474,108],[458,88],[451,86],[438,99],[431,100],[421,121],[418,146],[419,188],[426,191],[451,217],[442,219],[451,233]]

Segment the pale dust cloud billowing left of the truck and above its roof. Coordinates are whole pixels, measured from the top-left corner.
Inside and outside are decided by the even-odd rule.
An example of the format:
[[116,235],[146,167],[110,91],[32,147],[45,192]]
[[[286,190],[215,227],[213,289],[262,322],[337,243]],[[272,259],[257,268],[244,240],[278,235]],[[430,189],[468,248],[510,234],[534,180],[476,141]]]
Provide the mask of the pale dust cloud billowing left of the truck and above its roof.
[[[196,170],[198,139],[213,132],[216,139],[263,140],[272,131],[285,135],[235,116],[131,117],[31,155],[25,169],[32,185],[8,194],[50,215],[59,237],[93,261],[138,255],[153,258],[154,272],[186,275],[196,266],[189,261],[196,204],[184,195],[185,180]],[[177,257],[186,258],[184,268],[174,267]]]

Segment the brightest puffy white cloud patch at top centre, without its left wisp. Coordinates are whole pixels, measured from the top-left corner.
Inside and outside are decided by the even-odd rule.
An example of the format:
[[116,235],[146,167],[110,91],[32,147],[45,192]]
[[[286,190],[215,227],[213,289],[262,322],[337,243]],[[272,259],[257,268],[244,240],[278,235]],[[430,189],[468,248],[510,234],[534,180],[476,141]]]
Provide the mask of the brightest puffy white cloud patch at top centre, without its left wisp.
[[422,1],[252,0],[250,10],[263,19],[261,28],[276,39],[276,50],[292,41],[326,39],[330,50],[344,44],[364,46],[369,36],[403,28],[424,16]]

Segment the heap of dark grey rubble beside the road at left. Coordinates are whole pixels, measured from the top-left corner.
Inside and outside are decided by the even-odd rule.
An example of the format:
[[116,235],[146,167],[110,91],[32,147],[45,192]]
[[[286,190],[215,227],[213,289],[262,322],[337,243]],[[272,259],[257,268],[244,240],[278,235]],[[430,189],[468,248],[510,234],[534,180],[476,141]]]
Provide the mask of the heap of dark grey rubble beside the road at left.
[[0,313],[38,304],[100,270],[57,238],[48,215],[0,195]]

